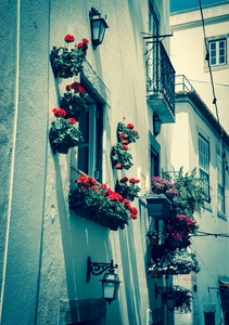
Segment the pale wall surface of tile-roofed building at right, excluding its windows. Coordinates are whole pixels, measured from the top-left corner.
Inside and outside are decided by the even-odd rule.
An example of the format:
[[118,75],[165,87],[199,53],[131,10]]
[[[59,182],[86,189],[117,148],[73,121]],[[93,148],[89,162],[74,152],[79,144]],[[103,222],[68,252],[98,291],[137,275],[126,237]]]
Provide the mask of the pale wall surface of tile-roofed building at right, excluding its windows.
[[[226,171],[226,213],[225,219],[217,214],[217,169],[216,169],[216,145],[220,147],[220,139],[214,130],[206,123],[206,120],[194,112],[193,104],[187,98],[178,99],[176,103],[176,123],[173,125],[174,142],[171,145],[171,161],[175,170],[181,166],[185,171],[190,171],[199,166],[198,157],[198,128],[209,138],[211,145],[211,162],[209,162],[209,182],[211,182],[211,204],[206,204],[206,208],[202,209],[201,213],[195,214],[199,231],[207,233],[228,233],[228,192],[229,181],[228,172]],[[182,136],[183,140],[179,141]],[[187,136],[188,134],[188,136]],[[176,145],[179,143],[179,150]],[[226,155],[228,156],[228,147]],[[192,237],[192,251],[196,252],[200,261],[201,271],[195,276],[175,276],[175,283],[188,288],[198,287],[196,294],[193,292],[193,311],[192,318],[190,315],[175,315],[175,324],[204,324],[203,308],[204,304],[216,306],[216,324],[219,324],[221,318],[220,296],[217,296],[217,290],[209,290],[209,287],[218,287],[219,277],[228,277],[228,238],[222,237]],[[186,284],[187,282],[187,284]],[[183,320],[185,317],[185,320]],[[183,323],[182,323],[183,322]],[[186,322],[186,323],[185,323]],[[193,322],[193,323],[192,323]]]

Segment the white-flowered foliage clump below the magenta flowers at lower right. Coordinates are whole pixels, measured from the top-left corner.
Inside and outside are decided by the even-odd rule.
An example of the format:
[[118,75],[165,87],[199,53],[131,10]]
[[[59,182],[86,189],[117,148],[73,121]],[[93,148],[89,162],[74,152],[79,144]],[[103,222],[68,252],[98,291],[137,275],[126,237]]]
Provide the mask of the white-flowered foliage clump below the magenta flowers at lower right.
[[199,262],[195,253],[189,253],[185,249],[166,251],[161,260],[154,261],[149,268],[152,276],[162,274],[189,274],[200,272]]

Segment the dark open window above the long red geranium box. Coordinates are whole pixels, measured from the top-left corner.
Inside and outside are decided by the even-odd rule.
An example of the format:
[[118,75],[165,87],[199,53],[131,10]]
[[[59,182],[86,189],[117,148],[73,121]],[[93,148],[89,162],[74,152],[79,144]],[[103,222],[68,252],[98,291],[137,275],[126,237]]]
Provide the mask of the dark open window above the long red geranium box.
[[84,142],[78,146],[78,169],[102,182],[102,105],[88,92],[86,100],[88,109],[79,117]]

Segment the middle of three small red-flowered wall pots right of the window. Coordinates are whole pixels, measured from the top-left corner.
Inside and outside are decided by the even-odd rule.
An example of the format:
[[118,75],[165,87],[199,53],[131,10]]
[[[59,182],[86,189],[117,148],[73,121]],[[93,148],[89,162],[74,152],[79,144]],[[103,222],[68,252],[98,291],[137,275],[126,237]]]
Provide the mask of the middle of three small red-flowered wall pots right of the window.
[[132,156],[128,153],[128,146],[120,143],[112,147],[111,159],[116,169],[129,169],[133,165],[131,162]]

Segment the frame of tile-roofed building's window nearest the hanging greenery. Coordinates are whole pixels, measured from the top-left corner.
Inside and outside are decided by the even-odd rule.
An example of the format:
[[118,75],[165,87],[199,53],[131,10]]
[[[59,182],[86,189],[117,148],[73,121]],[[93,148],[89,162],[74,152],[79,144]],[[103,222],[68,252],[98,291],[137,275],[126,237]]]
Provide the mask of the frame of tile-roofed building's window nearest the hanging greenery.
[[[200,145],[200,141],[202,141],[202,143],[205,145],[205,147],[207,147],[207,155],[205,155],[205,150],[204,152],[201,152],[201,145]],[[205,136],[203,136],[200,132],[199,132],[199,136],[198,136],[198,144],[199,144],[199,174],[200,178],[206,178],[207,182],[206,182],[206,186],[203,185],[203,190],[204,193],[206,195],[206,202],[211,203],[211,194],[209,194],[209,141],[206,140]],[[202,146],[203,148],[203,146]],[[201,164],[201,155],[203,156],[202,158],[202,164]],[[205,160],[205,161],[204,161]],[[207,169],[205,168],[205,166],[207,166]]]

